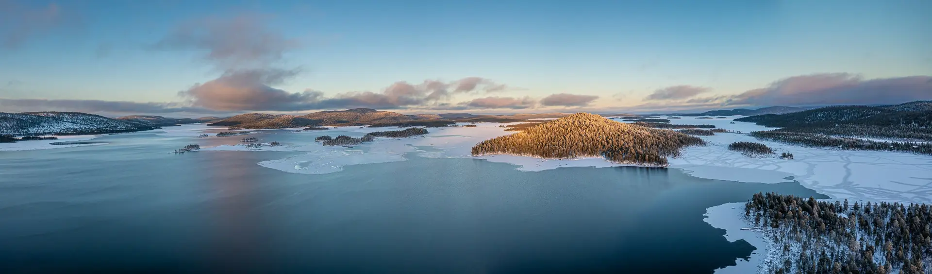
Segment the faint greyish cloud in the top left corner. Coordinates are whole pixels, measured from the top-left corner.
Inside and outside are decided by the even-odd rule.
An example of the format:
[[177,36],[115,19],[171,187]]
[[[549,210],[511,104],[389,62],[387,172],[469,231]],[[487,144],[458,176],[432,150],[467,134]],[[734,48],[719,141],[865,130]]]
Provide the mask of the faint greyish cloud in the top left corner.
[[75,20],[75,16],[63,12],[58,5],[26,6],[11,0],[0,0],[0,46],[3,48],[19,48],[32,36],[74,25],[70,22]]

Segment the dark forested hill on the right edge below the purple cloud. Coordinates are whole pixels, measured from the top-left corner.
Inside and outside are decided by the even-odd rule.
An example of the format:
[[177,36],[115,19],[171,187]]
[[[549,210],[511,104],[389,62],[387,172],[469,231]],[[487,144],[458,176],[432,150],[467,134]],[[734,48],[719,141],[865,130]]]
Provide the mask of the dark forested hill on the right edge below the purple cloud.
[[747,116],[735,121],[783,128],[780,131],[837,136],[932,141],[932,103],[836,105],[784,115]]

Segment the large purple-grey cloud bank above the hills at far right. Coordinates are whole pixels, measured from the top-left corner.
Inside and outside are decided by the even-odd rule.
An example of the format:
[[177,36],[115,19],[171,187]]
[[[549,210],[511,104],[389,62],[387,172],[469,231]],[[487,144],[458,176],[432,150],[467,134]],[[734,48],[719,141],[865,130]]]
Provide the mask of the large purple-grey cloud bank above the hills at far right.
[[932,76],[865,80],[854,74],[799,75],[729,98],[727,104],[816,105],[906,103],[932,99]]

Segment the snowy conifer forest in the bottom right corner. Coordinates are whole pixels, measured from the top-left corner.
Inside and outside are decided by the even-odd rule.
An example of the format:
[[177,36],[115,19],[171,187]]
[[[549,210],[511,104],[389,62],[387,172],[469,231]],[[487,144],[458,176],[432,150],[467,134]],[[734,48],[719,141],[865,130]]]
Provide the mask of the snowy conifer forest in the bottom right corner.
[[745,218],[774,240],[769,273],[932,273],[932,206],[755,194]]

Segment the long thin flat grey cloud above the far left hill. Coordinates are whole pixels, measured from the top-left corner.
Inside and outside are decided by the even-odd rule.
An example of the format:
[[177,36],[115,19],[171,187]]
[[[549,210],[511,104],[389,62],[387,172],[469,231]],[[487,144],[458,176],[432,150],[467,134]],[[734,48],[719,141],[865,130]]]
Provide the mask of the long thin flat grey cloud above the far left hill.
[[0,109],[5,112],[25,111],[76,111],[87,113],[132,113],[132,114],[166,114],[166,113],[218,113],[215,111],[181,105],[180,103],[136,103],[127,101],[101,100],[48,100],[48,99],[3,99]]

